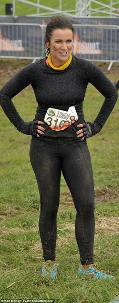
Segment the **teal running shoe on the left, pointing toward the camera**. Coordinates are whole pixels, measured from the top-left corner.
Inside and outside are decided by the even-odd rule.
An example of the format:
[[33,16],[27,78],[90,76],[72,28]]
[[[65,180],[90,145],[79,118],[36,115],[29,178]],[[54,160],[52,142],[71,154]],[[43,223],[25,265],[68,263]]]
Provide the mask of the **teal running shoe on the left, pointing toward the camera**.
[[50,280],[55,280],[57,276],[58,265],[52,263],[51,260],[47,260],[42,264],[42,276],[47,277]]

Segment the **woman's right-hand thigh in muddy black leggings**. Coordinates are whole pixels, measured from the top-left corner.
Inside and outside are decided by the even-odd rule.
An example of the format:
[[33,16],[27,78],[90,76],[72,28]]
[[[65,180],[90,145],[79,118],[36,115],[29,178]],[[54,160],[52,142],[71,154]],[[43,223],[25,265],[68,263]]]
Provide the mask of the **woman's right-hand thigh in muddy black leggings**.
[[87,143],[63,150],[62,171],[77,211],[94,205],[94,184]]

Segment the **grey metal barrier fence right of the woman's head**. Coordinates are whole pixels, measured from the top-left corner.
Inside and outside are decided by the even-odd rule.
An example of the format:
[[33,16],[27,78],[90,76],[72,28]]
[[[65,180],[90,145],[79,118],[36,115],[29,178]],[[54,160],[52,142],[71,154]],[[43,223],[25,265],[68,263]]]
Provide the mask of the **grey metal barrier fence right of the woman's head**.
[[74,54],[90,61],[113,62],[119,60],[119,26],[75,24]]

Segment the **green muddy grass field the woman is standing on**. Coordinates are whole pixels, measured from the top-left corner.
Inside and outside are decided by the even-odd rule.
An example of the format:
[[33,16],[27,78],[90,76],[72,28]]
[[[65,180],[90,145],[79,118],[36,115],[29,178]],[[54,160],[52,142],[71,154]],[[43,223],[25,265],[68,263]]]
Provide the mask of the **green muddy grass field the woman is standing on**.
[[[2,60],[1,86],[27,61]],[[102,66],[103,68],[104,66]],[[105,69],[106,71],[106,69]],[[114,83],[117,70],[113,66],[108,77]],[[85,119],[93,121],[103,97],[88,86],[84,102]],[[25,121],[34,118],[36,101],[31,87],[14,98]],[[113,274],[114,280],[96,281],[79,277],[79,253],[75,240],[75,208],[62,176],[61,203],[57,216],[56,282],[41,279],[42,249],[38,232],[39,194],[29,162],[31,138],[19,133],[0,108],[0,264],[1,299],[51,299],[56,303],[107,303],[118,295],[118,102],[111,116],[96,136],[88,139],[95,182],[95,246],[94,256],[100,270]]]

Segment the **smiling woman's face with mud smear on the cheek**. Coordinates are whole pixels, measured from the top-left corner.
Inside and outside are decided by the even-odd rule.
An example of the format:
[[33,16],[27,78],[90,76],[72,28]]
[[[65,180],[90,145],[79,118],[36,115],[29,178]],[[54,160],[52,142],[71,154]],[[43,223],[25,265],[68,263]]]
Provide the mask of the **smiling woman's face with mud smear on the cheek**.
[[51,61],[56,67],[63,65],[68,61],[73,53],[73,32],[69,28],[56,28],[52,31],[50,42],[46,42],[50,47]]

